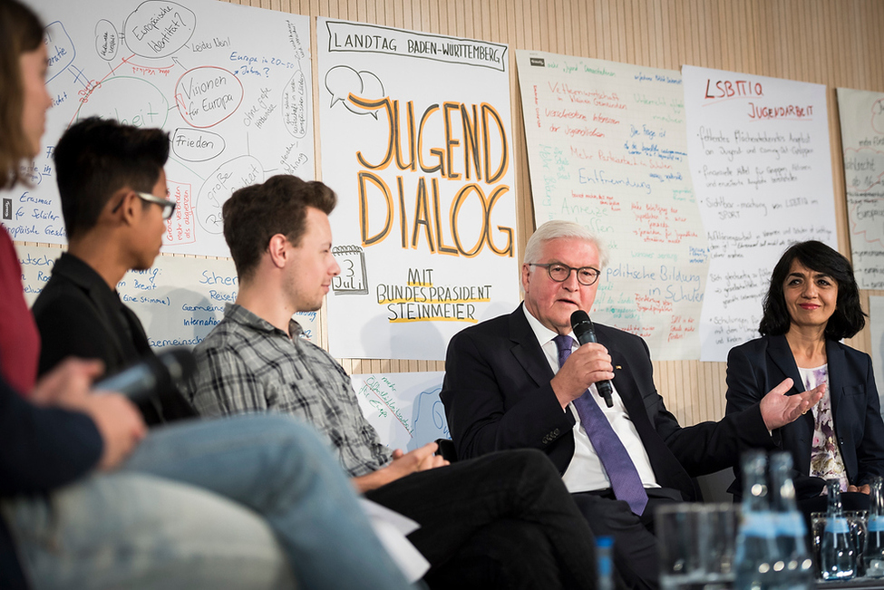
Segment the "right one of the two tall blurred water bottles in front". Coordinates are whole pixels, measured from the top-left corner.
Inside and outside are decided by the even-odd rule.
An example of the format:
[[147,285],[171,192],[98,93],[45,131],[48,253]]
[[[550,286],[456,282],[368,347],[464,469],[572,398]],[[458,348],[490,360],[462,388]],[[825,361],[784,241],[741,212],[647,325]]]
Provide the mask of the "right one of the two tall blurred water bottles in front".
[[792,455],[771,455],[771,508],[777,547],[782,561],[773,564],[774,583],[781,590],[809,590],[813,587],[813,560],[807,550],[807,526],[795,502]]

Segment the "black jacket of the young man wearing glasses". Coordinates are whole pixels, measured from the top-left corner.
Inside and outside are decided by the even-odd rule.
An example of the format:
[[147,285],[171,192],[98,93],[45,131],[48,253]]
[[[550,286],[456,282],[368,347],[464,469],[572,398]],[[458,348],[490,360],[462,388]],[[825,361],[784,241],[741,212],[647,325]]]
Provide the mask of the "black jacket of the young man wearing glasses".
[[[43,341],[39,372],[43,374],[68,356],[101,359],[107,375],[119,372],[146,355],[151,344],[138,316],[83,260],[64,253],[55,261],[53,276],[32,308]],[[180,395],[142,401],[139,409],[149,424],[195,416]]]

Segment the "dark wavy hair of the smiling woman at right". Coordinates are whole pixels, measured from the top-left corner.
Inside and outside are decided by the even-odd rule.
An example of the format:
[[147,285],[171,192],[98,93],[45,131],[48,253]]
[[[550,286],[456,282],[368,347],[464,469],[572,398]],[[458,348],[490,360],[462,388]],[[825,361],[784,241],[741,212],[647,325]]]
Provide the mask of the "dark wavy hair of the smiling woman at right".
[[792,269],[792,262],[798,260],[812,271],[822,273],[838,285],[838,299],[835,313],[831,314],[826,324],[825,336],[829,340],[840,340],[860,332],[866,325],[866,314],[860,308],[860,287],[853,277],[853,266],[841,256],[837,250],[822,242],[811,240],[799,242],[786,250],[780,262],[773,267],[771,286],[764,297],[764,314],[758,331],[762,335],[786,334],[792,317],[786,308],[786,298],[782,285]]

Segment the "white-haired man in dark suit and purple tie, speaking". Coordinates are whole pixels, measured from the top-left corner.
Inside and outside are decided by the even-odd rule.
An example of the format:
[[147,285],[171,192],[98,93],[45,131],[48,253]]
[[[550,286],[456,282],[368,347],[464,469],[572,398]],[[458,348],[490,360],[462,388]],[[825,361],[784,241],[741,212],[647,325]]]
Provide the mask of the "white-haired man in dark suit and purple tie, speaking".
[[[574,337],[571,314],[592,310],[606,264],[584,227],[538,227],[521,268],[524,304],[452,338],[440,397],[459,458],[543,450],[592,531],[614,537],[627,585],[656,587],[655,508],[696,499],[691,477],[733,466],[743,449],[772,448],[768,430],[821,392],[787,397],[787,380],[749,410],[681,428],[656,392],[641,338],[601,324],[598,343]],[[596,386],[608,380],[611,408]]]

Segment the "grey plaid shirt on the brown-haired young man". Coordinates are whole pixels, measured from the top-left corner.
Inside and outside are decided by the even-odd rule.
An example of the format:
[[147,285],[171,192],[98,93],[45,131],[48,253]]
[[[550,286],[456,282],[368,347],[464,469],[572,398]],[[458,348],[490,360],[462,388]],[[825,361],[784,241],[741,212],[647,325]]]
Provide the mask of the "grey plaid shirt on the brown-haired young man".
[[350,377],[329,353],[288,334],[240,305],[227,305],[224,319],[195,349],[198,372],[189,399],[201,415],[278,411],[313,424],[331,443],[351,477],[380,469],[390,459],[374,427],[365,420]]

